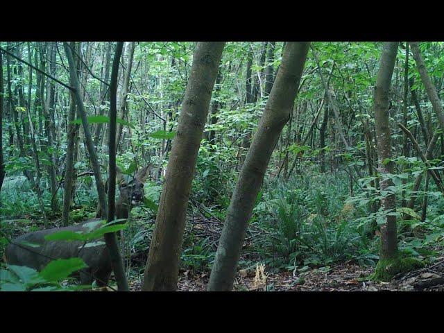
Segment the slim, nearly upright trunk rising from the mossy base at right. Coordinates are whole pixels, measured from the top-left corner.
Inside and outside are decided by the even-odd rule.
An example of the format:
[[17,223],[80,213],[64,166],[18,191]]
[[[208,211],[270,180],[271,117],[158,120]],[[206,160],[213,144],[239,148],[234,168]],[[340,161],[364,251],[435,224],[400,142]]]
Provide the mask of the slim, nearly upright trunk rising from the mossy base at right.
[[382,198],[381,204],[386,215],[386,223],[381,226],[380,259],[394,259],[398,255],[398,239],[396,234],[396,197],[388,187],[393,187],[393,180],[388,174],[393,173],[391,162],[391,128],[388,114],[389,91],[391,76],[395,67],[398,42],[384,42],[379,71],[375,87],[375,129],[377,152],[379,155],[378,171],[382,175],[379,187],[388,194]]

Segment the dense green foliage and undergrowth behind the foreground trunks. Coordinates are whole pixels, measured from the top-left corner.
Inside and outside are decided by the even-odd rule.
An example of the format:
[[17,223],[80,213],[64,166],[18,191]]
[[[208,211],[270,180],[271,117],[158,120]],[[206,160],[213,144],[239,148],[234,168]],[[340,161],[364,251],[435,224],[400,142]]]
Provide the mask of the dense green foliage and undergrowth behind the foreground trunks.
[[[375,266],[379,225],[386,216],[380,200],[388,192],[396,196],[400,251],[423,264],[443,257],[443,191],[427,170],[442,181],[444,134],[416,62],[406,53],[407,45],[400,44],[391,83],[393,158],[382,161],[394,163],[393,174],[384,175],[394,186],[380,191],[373,94],[382,43],[311,43],[291,117],[255,203],[239,269],[256,267],[257,262],[268,271],[300,274],[313,268],[329,271],[345,262]],[[69,85],[62,43],[0,42],[0,47],[6,171],[0,193],[3,255],[17,235],[62,225],[69,135],[75,138],[69,224],[94,218],[98,198],[80,120],[69,121],[73,99],[67,87],[53,80]],[[123,48],[117,164],[126,176],[137,166],[151,164],[144,205],[131,211],[120,239],[130,281],[140,282],[144,273],[195,47],[196,42],[126,42]],[[283,47],[282,42],[228,42],[223,49],[191,188],[180,255],[182,273],[211,270],[232,191],[280,67]],[[441,101],[443,50],[443,42],[420,43]],[[73,51],[105,178],[114,43],[78,42]],[[398,123],[410,131],[424,154],[436,136],[427,155],[429,165]],[[69,132],[72,124],[74,133]],[[419,187],[414,188],[415,182]],[[78,261],[54,262],[37,273],[2,264],[1,289],[77,290],[83,287],[75,287],[68,276],[82,267]]]

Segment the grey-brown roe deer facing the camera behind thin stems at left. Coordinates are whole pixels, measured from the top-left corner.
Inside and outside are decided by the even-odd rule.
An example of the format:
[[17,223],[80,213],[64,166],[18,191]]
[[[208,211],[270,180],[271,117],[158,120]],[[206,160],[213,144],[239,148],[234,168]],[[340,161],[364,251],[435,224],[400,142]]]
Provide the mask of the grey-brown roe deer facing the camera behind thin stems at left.
[[[144,182],[148,177],[149,166],[139,170],[135,178],[130,182],[125,182],[119,169],[117,170],[117,184],[119,185],[120,196],[116,201],[117,219],[128,219],[128,214],[132,207],[140,205],[144,198]],[[52,228],[29,232],[14,239],[5,250],[6,262],[12,265],[28,266],[42,270],[53,259],[67,259],[70,257],[80,257],[87,264],[87,268],[80,270],[80,281],[82,284],[92,284],[93,280],[103,287],[107,284],[111,272],[112,264],[108,248],[105,244],[83,247],[83,241],[46,241],[44,237],[48,234],[69,230],[72,232],[91,232],[101,226],[99,223],[91,223],[100,221],[101,219],[90,219],[77,225],[70,225],[65,228]],[[90,230],[89,225],[96,224]],[[98,239],[103,241],[103,237]],[[37,244],[38,247],[28,246],[26,243]]]

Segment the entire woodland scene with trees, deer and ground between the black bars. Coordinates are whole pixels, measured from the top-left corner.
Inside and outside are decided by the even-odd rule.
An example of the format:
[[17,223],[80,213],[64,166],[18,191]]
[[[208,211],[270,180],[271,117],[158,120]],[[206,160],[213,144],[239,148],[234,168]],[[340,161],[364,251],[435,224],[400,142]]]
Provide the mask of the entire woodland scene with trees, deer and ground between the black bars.
[[444,291],[444,42],[0,42],[0,291]]

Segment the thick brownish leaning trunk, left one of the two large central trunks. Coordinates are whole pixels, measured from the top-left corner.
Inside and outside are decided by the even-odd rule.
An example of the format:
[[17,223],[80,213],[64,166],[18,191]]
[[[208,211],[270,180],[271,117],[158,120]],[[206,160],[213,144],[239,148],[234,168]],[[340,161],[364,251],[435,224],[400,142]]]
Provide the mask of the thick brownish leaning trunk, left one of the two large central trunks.
[[198,42],[146,262],[144,291],[174,291],[191,182],[225,42]]

